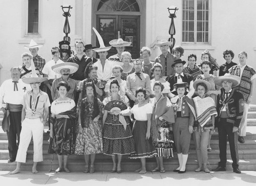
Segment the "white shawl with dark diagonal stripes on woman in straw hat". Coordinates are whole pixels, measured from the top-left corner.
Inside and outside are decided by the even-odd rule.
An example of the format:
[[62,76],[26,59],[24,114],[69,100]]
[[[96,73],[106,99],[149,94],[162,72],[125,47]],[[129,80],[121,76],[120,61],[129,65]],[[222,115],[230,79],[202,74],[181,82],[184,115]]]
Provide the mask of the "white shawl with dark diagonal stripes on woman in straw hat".
[[[216,110],[214,100],[212,100],[212,98],[200,98],[199,96],[197,96],[193,98],[193,101],[196,108],[197,120],[201,127],[203,127],[211,119],[211,115],[215,115],[215,117],[217,117],[218,113]],[[205,129],[207,129],[213,126],[205,127]]]

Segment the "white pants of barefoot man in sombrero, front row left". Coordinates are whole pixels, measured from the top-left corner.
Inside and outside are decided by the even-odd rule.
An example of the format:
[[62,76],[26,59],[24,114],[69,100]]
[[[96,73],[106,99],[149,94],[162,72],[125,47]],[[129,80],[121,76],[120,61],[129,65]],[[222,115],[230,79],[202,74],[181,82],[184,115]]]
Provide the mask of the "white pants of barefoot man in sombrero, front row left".
[[20,132],[20,142],[16,156],[17,162],[26,162],[27,150],[33,136],[34,142],[34,162],[42,161],[42,138],[44,134],[44,124],[40,118],[28,119],[22,122],[22,131]]

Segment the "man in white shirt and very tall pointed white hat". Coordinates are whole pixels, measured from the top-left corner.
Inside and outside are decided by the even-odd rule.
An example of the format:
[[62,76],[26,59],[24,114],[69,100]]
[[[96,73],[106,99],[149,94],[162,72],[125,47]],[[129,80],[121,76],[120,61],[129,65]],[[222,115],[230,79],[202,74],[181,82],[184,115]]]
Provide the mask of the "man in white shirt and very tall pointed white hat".
[[105,47],[104,42],[98,31],[93,28],[95,34],[97,35],[100,47],[97,49],[93,49],[93,51],[97,52],[99,54],[99,59],[94,63],[95,66],[98,67],[97,69],[97,76],[98,80],[101,81],[101,84],[105,87],[106,82],[111,78],[112,76],[112,67],[116,64],[112,61],[109,61],[106,59],[106,56],[108,55],[108,51],[111,49],[110,47]]

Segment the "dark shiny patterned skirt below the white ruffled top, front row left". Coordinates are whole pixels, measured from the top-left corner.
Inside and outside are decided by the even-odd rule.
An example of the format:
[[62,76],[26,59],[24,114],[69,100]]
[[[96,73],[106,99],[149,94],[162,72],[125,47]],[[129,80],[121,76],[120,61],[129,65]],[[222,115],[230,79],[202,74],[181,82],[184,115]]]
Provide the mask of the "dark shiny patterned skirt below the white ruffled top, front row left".
[[75,151],[75,124],[71,119],[59,118],[53,124],[53,142],[49,149],[58,155],[70,155]]

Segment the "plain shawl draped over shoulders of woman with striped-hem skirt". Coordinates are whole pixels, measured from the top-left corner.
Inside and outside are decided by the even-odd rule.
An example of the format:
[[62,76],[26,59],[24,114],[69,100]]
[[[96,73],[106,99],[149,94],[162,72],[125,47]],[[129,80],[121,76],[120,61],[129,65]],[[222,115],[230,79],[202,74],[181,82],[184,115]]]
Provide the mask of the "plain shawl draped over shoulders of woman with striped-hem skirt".
[[[153,139],[153,143],[157,142],[157,138],[159,135],[159,128],[162,126],[165,121],[168,124],[175,123],[174,117],[174,108],[172,103],[170,103],[167,97],[162,97],[157,101],[156,99],[150,99],[150,102],[153,107],[153,114],[151,119],[151,135]],[[162,117],[164,120],[160,121],[159,117]]]

